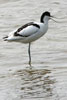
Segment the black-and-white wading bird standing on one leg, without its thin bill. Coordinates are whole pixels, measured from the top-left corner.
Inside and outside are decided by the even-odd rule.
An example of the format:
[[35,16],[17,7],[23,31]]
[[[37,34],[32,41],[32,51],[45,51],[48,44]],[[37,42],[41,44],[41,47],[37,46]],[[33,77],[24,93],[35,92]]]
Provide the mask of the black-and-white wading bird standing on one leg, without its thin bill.
[[48,21],[52,16],[46,11],[41,15],[40,22],[30,22],[19,29],[14,30],[8,36],[4,37],[5,41],[29,43],[29,65],[31,66],[30,44],[31,42],[42,37],[48,30]]

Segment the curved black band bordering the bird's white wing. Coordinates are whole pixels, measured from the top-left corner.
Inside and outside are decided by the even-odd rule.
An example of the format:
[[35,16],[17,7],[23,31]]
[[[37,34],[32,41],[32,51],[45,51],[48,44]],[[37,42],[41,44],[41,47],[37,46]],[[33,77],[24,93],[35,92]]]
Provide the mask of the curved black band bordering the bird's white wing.
[[27,24],[23,25],[22,27],[20,27],[20,28],[14,33],[14,36],[28,37],[28,35],[27,35],[27,36],[24,36],[24,35],[18,34],[18,32],[20,32],[21,30],[23,30],[24,28],[26,28],[26,27],[28,27],[28,26],[30,26],[30,25],[33,25],[33,26],[35,26],[35,27],[37,27],[37,28],[40,28],[40,26],[39,26],[38,24],[33,23],[33,22],[30,22],[30,23],[27,23]]

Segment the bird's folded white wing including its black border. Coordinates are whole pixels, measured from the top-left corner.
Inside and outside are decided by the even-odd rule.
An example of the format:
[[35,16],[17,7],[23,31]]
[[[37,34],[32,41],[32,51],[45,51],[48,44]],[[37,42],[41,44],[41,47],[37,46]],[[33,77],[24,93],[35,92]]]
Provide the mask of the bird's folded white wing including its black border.
[[32,34],[35,34],[40,29],[40,26],[36,23],[30,22],[20,27],[15,33],[14,36],[28,37]]

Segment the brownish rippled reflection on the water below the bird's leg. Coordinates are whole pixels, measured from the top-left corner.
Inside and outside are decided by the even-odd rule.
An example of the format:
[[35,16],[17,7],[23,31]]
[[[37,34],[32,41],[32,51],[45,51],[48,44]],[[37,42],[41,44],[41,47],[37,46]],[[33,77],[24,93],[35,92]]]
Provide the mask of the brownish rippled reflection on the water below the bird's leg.
[[18,70],[21,78],[21,98],[44,98],[53,95],[55,80],[46,69]]

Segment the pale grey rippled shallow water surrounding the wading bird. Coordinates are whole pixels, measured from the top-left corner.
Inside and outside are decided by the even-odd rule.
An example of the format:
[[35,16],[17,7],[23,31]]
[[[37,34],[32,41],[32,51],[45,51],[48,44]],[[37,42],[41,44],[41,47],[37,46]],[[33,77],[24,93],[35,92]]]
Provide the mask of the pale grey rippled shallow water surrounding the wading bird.
[[[67,1],[0,0],[0,99],[67,100]],[[8,43],[3,37],[50,11],[62,23],[49,21],[48,32],[28,45]]]

